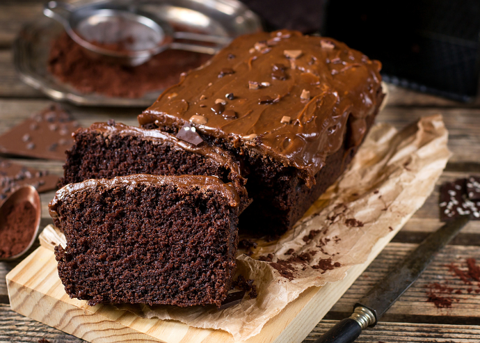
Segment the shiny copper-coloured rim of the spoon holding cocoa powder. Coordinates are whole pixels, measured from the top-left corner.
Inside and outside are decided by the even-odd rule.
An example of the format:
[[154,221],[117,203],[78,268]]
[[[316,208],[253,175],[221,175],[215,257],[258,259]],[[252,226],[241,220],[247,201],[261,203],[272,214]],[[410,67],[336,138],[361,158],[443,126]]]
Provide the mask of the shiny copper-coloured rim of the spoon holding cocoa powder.
[[35,187],[28,184],[21,186],[19,189],[17,189],[17,191],[10,194],[10,196],[0,206],[0,232],[5,229],[8,209],[10,209],[11,206],[17,206],[24,201],[30,202],[35,209],[35,230],[33,232],[32,239],[29,245],[26,246],[26,248],[24,248],[21,253],[10,257],[0,258],[0,261],[12,261],[24,255],[24,253],[26,253],[29,248],[31,248],[31,246],[35,242],[35,239],[37,239],[38,228],[40,227],[40,218],[42,216],[42,207],[40,205],[40,196],[38,195],[38,191],[35,189]]

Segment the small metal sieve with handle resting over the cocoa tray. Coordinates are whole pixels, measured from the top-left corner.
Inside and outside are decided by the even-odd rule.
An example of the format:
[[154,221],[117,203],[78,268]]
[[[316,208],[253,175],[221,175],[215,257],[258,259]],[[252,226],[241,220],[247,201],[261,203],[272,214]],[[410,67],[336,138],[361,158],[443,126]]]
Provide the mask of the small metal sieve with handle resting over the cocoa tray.
[[[70,38],[90,56],[108,58],[124,65],[141,65],[165,49],[195,51],[216,54],[230,43],[232,38],[216,35],[174,31],[172,26],[150,13],[134,6],[102,1],[75,8],[70,3],[49,1],[43,14],[60,22]],[[175,42],[175,39],[205,42]],[[99,45],[93,42],[100,43]],[[105,45],[121,43],[121,49],[109,49]]]

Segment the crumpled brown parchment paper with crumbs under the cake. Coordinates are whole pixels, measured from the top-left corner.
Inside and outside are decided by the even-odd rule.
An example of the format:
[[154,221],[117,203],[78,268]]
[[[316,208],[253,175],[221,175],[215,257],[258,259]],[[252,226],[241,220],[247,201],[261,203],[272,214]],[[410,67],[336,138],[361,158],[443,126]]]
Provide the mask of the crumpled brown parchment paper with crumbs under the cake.
[[[141,317],[225,330],[237,341],[257,335],[305,289],[342,280],[351,266],[367,260],[378,239],[400,230],[445,168],[450,156],[447,136],[440,115],[422,118],[402,131],[374,126],[346,172],[294,229],[278,241],[257,241],[250,257],[239,251],[237,276],[255,280],[257,298],[246,295],[225,310],[117,307]],[[271,262],[257,260],[260,256]]]

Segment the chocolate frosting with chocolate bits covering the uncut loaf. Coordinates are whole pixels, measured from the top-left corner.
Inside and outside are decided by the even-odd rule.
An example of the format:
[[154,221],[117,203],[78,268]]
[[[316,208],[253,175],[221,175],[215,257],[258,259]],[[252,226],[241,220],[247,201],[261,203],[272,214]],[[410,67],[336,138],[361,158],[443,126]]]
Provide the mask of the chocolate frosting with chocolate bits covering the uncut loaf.
[[305,170],[311,182],[344,143],[347,124],[351,146],[362,142],[365,118],[383,98],[380,69],[331,38],[285,30],[243,35],[163,92],[138,121],[190,121],[202,134]]

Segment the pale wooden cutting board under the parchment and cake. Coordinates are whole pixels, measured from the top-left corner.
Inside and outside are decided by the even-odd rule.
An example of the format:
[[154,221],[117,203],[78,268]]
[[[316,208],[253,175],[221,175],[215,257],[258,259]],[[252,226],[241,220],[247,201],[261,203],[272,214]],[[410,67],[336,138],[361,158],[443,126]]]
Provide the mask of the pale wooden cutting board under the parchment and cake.
[[[367,262],[349,269],[346,278],[307,289],[248,343],[302,342],[338,299],[385,248],[397,230],[380,239]],[[143,319],[109,305],[88,306],[71,299],[61,284],[54,253],[42,246],[6,276],[12,310],[88,342],[234,343],[222,330],[193,328],[178,321]]]

